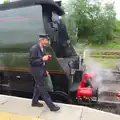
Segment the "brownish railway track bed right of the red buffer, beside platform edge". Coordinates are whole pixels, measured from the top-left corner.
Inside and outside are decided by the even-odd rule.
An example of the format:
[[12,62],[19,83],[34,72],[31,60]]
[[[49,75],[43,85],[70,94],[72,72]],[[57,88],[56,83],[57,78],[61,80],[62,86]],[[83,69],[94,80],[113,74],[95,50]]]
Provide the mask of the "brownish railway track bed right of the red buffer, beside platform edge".
[[93,108],[120,115],[120,98],[117,98],[117,92],[120,91],[120,72],[113,71],[113,75],[114,80],[103,81],[106,88],[99,93],[98,103]]

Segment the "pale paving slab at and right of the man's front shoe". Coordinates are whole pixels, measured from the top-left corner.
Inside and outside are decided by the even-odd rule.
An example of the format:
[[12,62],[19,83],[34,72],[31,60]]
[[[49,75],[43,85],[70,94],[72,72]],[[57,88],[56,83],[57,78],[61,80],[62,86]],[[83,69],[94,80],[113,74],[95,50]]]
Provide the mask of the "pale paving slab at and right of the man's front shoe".
[[57,104],[60,106],[58,112],[44,111],[40,118],[44,120],[80,120],[82,107],[75,105]]

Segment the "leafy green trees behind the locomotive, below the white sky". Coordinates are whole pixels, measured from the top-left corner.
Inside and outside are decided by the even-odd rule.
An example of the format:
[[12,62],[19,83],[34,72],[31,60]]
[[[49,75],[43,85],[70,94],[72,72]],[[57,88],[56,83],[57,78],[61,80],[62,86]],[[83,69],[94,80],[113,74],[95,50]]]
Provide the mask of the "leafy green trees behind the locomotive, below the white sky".
[[72,0],[64,7],[68,12],[64,20],[72,40],[87,38],[86,43],[105,44],[114,38],[116,13],[113,3],[103,5],[98,0],[92,3],[90,0]]

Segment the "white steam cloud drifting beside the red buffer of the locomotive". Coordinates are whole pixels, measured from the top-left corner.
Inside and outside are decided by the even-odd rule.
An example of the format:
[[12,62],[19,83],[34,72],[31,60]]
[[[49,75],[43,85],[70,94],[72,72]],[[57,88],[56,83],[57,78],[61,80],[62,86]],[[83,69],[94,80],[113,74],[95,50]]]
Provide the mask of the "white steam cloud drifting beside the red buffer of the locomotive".
[[86,67],[87,72],[95,73],[95,78],[92,80],[92,85],[94,88],[99,89],[99,94],[104,91],[108,91],[109,86],[105,83],[111,82],[114,79],[112,71],[104,69],[103,66],[97,63],[93,58],[89,58],[86,63]]

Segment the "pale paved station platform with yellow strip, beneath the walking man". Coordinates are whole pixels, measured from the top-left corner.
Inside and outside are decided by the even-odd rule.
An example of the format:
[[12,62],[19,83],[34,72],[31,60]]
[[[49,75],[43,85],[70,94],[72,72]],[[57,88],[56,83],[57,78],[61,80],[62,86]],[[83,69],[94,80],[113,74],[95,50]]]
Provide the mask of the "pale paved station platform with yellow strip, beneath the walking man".
[[0,95],[0,120],[120,120],[119,115],[83,106],[55,103],[61,107],[51,112],[44,107],[31,107],[31,100]]

